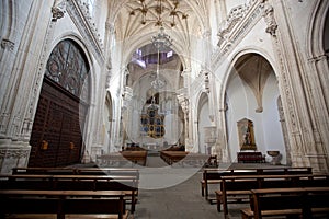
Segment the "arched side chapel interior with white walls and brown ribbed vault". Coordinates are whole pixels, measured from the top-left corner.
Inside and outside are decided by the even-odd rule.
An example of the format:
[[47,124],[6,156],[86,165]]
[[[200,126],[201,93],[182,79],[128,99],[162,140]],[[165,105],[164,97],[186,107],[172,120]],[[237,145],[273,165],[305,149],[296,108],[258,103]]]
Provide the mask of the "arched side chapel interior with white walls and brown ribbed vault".
[[225,111],[226,132],[231,158],[236,158],[235,153],[240,150],[237,122],[243,117],[254,122],[256,150],[265,153],[276,149],[285,155],[276,106],[280,95],[277,80],[268,59],[257,53],[239,56],[232,62],[225,93],[228,104]]

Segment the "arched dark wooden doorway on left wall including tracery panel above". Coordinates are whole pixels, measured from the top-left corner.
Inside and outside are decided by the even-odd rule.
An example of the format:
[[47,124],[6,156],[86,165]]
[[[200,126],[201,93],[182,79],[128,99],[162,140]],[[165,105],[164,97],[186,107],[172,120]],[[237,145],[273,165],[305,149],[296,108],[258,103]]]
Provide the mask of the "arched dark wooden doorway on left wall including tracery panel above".
[[80,162],[89,99],[88,71],[86,59],[73,42],[64,41],[54,48],[34,118],[29,166]]

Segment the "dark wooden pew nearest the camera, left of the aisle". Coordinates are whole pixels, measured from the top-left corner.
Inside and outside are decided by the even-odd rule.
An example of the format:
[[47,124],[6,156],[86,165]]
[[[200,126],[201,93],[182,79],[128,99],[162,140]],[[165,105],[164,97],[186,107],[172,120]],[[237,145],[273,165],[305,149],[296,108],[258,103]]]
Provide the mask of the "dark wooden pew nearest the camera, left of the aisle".
[[56,214],[57,219],[64,219],[69,214],[111,214],[117,219],[126,219],[129,212],[123,197],[124,193],[120,191],[0,189],[0,217]]

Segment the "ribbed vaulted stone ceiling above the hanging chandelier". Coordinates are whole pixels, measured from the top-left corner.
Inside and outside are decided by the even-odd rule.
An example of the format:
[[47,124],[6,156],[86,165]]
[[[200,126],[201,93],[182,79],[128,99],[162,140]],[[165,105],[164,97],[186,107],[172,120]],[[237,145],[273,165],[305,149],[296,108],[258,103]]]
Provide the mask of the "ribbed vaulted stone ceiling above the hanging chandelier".
[[128,47],[148,44],[159,31],[156,24],[160,3],[162,25],[174,42],[174,50],[189,48],[191,36],[200,37],[208,30],[208,0],[111,0],[109,20],[114,22],[116,41],[125,42]]

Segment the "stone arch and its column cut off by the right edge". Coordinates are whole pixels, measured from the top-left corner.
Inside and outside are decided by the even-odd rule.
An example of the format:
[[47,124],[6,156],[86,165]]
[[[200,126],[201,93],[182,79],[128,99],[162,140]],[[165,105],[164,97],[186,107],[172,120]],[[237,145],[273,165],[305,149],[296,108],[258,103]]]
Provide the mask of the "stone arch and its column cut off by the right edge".
[[[328,117],[329,112],[329,88],[327,82],[329,81],[329,2],[317,1],[313,4],[313,13],[310,14],[308,22],[308,35],[305,37],[306,54],[308,58],[308,71],[314,77],[309,78],[310,84],[310,107],[314,112],[313,128],[315,137],[315,150],[319,157],[311,158],[316,161],[314,163],[315,171],[322,171],[328,169],[328,145],[329,136],[327,130],[329,129],[328,123],[322,118]],[[322,155],[324,154],[324,155]],[[317,165],[317,166],[316,166]]]

